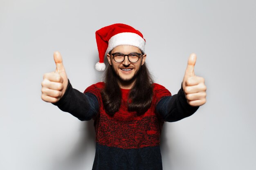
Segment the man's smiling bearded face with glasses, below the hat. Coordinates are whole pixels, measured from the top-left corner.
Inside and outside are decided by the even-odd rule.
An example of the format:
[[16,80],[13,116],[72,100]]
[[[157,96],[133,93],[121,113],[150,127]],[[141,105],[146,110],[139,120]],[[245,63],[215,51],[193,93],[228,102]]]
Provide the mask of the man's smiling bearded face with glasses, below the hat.
[[121,88],[131,88],[135,82],[136,75],[140,67],[144,64],[146,60],[146,54],[142,55],[141,50],[135,46],[130,45],[120,45],[112,49],[111,53],[140,53],[139,60],[135,63],[131,63],[128,60],[128,56],[125,56],[125,59],[121,63],[117,63],[114,60],[113,55],[107,54],[108,62],[112,66],[112,69],[115,71],[116,75],[119,77],[119,85]]

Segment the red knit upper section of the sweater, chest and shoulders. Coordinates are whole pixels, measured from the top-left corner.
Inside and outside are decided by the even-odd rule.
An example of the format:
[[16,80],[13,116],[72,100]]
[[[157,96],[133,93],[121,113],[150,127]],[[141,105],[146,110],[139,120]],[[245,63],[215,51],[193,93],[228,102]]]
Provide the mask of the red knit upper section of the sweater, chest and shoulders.
[[153,84],[153,99],[150,108],[144,115],[137,116],[135,112],[128,112],[127,98],[129,90],[121,89],[122,104],[113,117],[106,114],[100,91],[104,83],[99,82],[86,88],[85,92],[93,93],[99,100],[99,114],[94,119],[96,142],[105,146],[119,148],[142,148],[160,144],[163,119],[155,113],[155,106],[164,96],[171,93],[159,84]]

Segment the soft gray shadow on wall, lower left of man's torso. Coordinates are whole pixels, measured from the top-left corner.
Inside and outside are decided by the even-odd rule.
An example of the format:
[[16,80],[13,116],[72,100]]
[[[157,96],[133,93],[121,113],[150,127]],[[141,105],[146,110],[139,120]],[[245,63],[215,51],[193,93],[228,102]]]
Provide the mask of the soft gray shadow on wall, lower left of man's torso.
[[55,161],[52,170],[90,170],[95,157],[93,120],[82,121],[79,140],[69,154]]

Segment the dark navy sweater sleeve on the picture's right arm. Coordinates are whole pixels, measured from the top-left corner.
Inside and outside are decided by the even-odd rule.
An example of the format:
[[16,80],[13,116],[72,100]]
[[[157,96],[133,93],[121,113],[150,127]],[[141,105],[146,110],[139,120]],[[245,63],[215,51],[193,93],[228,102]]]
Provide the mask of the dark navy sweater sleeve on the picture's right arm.
[[198,110],[199,106],[190,106],[181,86],[177,94],[162,97],[156,106],[156,112],[164,121],[173,122],[189,117]]

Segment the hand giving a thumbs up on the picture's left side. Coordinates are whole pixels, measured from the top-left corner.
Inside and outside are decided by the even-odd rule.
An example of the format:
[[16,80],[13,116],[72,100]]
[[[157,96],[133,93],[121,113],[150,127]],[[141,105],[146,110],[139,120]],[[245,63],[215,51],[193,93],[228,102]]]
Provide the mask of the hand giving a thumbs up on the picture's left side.
[[54,52],[54,61],[56,64],[56,70],[54,72],[45,73],[41,83],[41,98],[45,102],[51,103],[56,103],[61,99],[68,84],[67,74],[62,63],[62,57],[58,51]]

